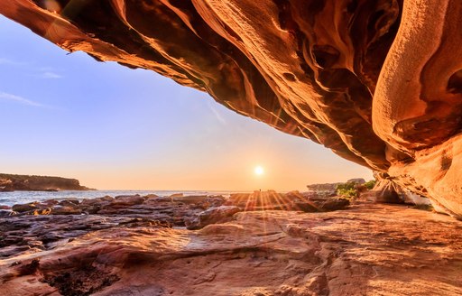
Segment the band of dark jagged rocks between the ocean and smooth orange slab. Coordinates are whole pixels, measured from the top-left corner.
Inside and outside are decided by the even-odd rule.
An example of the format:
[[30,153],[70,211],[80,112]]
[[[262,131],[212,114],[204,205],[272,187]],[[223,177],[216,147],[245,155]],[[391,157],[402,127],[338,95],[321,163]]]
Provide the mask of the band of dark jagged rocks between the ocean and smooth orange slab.
[[346,208],[347,199],[316,193],[275,191],[223,196],[169,197],[126,195],[97,199],[48,199],[0,210],[0,259],[50,250],[88,232],[130,226],[199,229],[229,221],[240,211],[300,210],[322,212]]

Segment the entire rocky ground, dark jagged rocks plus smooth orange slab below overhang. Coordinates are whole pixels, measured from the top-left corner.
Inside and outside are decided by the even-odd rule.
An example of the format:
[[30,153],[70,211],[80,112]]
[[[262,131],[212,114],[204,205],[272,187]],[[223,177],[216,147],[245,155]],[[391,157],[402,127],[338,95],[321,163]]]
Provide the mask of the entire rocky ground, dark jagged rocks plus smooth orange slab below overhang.
[[404,205],[255,191],[13,209],[0,217],[5,295],[462,293],[462,222]]

